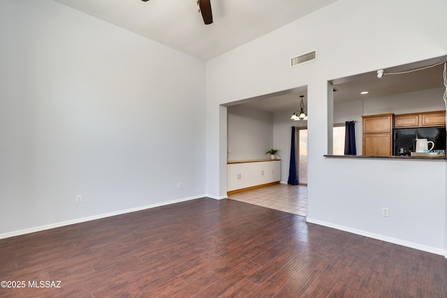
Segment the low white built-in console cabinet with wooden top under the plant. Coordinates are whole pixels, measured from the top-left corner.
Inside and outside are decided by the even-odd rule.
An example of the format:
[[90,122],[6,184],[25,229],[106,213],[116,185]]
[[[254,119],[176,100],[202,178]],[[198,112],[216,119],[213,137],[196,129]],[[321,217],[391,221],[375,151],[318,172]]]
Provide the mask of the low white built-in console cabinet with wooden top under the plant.
[[281,181],[281,160],[229,161],[227,193],[278,184]]

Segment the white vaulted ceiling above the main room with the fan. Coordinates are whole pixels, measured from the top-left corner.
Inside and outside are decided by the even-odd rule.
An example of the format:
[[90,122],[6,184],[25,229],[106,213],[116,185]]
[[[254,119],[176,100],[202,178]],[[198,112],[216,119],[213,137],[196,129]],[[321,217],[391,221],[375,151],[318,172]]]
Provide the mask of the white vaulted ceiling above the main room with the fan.
[[55,0],[205,61],[337,0],[211,0],[203,23],[197,0]]

